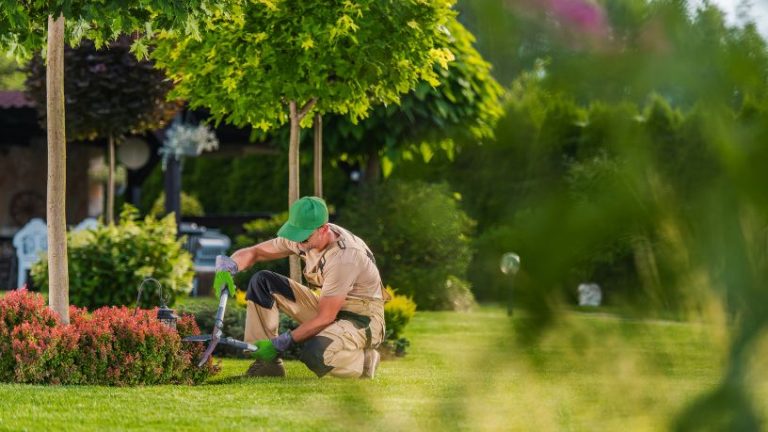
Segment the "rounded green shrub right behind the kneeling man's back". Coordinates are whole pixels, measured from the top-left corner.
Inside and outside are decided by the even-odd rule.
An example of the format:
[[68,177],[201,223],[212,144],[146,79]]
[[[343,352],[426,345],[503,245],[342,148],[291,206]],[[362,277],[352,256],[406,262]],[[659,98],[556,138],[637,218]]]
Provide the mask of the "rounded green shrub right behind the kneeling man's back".
[[466,278],[474,226],[447,185],[389,181],[363,189],[349,199],[339,223],[372,249],[384,282],[420,308],[473,301],[468,290],[447,287],[451,276]]

